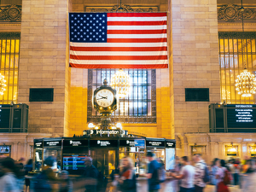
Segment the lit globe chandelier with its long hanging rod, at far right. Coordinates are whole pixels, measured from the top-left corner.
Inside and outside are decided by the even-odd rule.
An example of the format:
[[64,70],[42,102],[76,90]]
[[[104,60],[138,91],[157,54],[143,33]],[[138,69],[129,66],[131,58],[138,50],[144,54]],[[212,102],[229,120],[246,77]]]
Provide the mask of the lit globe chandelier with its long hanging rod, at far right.
[[[241,22],[242,22],[242,40],[241,40],[241,56],[242,60],[244,59],[244,53],[243,53],[243,39],[244,39],[244,26],[243,26],[243,12],[244,8],[242,7],[242,0],[241,0]],[[247,46],[247,44],[246,44]],[[256,91],[256,79],[255,76],[248,72],[247,70],[247,62],[244,62],[244,70],[241,74],[237,75],[236,77],[236,90],[238,91],[238,94],[244,97],[249,97],[255,94]]]

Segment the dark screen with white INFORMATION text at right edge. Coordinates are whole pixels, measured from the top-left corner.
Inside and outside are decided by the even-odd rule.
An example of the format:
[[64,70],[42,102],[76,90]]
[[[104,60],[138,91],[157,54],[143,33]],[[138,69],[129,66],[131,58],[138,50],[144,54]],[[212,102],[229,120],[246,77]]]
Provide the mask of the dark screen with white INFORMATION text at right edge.
[[227,105],[229,128],[256,128],[256,105]]

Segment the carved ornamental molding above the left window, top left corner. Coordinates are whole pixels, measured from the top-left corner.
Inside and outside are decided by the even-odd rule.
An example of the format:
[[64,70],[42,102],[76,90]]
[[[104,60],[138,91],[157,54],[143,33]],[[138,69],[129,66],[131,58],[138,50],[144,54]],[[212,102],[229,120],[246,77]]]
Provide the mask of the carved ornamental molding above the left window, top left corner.
[[7,5],[0,6],[0,22],[20,22],[21,6]]

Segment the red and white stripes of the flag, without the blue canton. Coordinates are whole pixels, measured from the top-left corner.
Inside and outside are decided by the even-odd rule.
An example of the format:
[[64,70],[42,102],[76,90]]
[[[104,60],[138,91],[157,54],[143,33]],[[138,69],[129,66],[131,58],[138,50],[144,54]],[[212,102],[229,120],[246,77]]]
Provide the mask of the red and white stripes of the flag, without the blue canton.
[[70,66],[167,68],[166,13],[108,13],[107,43],[70,42]]

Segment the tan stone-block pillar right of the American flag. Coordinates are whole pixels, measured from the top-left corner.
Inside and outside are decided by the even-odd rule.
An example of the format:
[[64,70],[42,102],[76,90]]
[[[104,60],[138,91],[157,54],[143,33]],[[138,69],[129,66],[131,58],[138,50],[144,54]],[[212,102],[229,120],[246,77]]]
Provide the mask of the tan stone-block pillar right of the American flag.
[[[208,105],[220,102],[216,0],[172,1],[174,126],[208,132]],[[210,102],[185,102],[185,88],[209,88]]]

